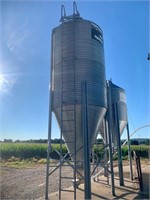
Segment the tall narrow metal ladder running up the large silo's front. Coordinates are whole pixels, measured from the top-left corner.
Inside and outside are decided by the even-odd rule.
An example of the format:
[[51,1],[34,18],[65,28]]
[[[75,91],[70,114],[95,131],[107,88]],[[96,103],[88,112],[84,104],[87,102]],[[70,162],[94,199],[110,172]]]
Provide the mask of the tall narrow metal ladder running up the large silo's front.
[[[68,192],[73,192],[74,193],[74,199],[76,199],[76,185],[77,185],[77,179],[76,179],[76,174],[77,174],[77,169],[76,169],[76,104],[75,104],[75,60],[74,64],[72,66],[69,66],[69,70],[71,70],[71,87],[67,88],[66,90],[66,65],[64,64],[65,58],[63,55],[63,35],[64,35],[64,23],[62,23],[62,67],[61,67],[61,113],[60,113],[60,154],[62,155],[60,159],[63,157],[63,152],[62,152],[62,139],[63,135],[65,138],[65,143],[68,144],[68,146],[72,146],[73,152],[69,152],[69,157],[72,158],[73,160],[69,159],[64,159],[64,162],[67,162],[70,167],[73,168],[73,174],[69,176],[63,176],[63,170],[62,168],[67,166],[67,165],[60,165],[59,168],[59,199],[61,199],[61,192],[63,191],[68,191]],[[74,38],[74,32],[73,32],[73,38]],[[73,46],[73,51],[75,47]],[[73,53],[74,55],[74,53]],[[69,102],[69,103],[68,103]],[[70,105],[69,105],[70,104]],[[71,137],[71,136],[72,137]],[[68,165],[68,166],[69,166]],[[63,188],[63,180],[68,179],[73,181],[73,190],[67,190]]]

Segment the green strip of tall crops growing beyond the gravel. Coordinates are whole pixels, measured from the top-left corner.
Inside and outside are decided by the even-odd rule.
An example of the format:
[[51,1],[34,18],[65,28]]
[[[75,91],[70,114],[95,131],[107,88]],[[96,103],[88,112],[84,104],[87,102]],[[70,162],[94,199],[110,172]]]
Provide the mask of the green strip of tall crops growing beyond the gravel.
[[[1,146],[1,159],[9,159],[10,157],[16,157],[20,159],[28,158],[46,158],[47,157],[47,144],[43,143],[0,143]],[[54,151],[56,149],[60,152],[60,144],[52,144],[50,156],[54,159],[58,159],[59,156]],[[145,145],[131,145],[131,150],[136,151],[140,157],[149,158],[150,146]],[[94,146],[94,152],[99,157],[103,155],[104,150],[102,145]],[[65,144],[62,145],[62,153],[67,153],[67,147]],[[128,147],[122,147],[122,157],[127,158]]]

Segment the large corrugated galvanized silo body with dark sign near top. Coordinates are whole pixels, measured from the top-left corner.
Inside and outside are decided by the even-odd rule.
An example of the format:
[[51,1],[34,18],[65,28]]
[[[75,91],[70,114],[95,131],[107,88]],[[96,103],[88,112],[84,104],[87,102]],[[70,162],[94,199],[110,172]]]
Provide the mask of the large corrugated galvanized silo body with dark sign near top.
[[107,109],[102,30],[95,23],[78,15],[66,18],[52,31],[51,58],[52,110],[62,129],[68,150],[74,152],[69,141],[76,140],[76,159],[82,161],[82,82],[88,85],[91,146]]

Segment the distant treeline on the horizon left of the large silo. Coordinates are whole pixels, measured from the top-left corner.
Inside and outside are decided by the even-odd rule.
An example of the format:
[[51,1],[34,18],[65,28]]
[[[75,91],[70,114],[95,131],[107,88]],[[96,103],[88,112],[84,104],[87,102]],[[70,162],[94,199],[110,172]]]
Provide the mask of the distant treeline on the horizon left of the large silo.
[[[30,140],[15,140],[13,141],[12,139],[4,139],[3,141],[0,142],[4,142],[4,143],[47,143],[47,139],[30,139]],[[64,140],[62,139],[51,139],[51,143],[52,144],[60,144],[62,142],[62,144],[64,144]]]

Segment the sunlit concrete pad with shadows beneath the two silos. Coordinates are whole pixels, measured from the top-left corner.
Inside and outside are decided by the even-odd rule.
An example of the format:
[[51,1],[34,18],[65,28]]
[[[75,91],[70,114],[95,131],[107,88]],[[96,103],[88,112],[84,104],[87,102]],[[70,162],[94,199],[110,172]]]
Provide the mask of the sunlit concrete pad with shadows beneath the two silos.
[[[123,166],[124,172],[128,173],[130,168],[129,166]],[[117,172],[117,167],[114,168],[114,172]],[[134,170],[133,170],[134,171]],[[92,193],[92,200],[98,199],[150,199],[150,165],[143,165],[142,166],[142,174],[143,174],[143,185],[144,190],[143,192],[139,191],[139,184],[137,180],[130,180],[129,178],[124,178],[124,186],[119,186],[119,178],[115,176],[115,196],[112,195],[111,185],[108,184],[107,178],[103,175],[99,176],[97,182],[91,181],[91,193]],[[146,179],[145,179],[146,177]],[[111,180],[109,178],[109,183]],[[61,199],[62,200],[74,200],[74,193],[73,187],[66,188],[68,191],[61,192]],[[69,192],[70,191],[70,192]],[[72,192],[71,192],[72,191]],[[146,197],[146,198],[145,198]],[[38,200],[43,200],[45,198],[40,198]],[[58,200],[59,199],[59,192],[55,192],[49,194],[49,200]],[[77,188],[77,200],[84,200],[84,184],[80,184]]]

